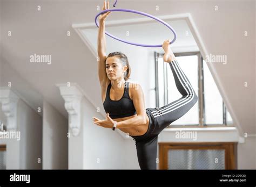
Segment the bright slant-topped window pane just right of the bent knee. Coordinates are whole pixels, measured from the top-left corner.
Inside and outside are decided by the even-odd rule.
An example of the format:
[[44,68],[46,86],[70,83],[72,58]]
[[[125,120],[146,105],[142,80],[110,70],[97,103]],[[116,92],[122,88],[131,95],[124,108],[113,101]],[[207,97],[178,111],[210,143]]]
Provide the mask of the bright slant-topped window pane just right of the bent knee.
[[223,124],[223,99],[204,60],[203,67],[205,123],[206,125]]

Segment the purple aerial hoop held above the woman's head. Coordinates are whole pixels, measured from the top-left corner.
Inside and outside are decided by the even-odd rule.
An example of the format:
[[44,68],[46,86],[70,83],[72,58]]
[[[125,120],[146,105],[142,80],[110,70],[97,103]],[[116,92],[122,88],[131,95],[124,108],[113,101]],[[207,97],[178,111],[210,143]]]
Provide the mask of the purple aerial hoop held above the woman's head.
[[[117,3],[117,0],[116,0],[116,2],[113,4],[114,7],[116,6],[116,3]],[[143,16],[146,16],[146,17],[150,17],[150,18],[152,18],[152,19],[154,19],[154,20],[157,20],[157,21],[159,21],[160,23],[162,23],[162,24],[164,24],[165,26],[167,26],[168,28],[170,28],[170,30],[173,32],[174,38],[173,38],[173,40],[170,42],[170,44],[172,44],[172,43],[176,40],[176,35],[177,35],[177,34],[176,34],[176,32],[174,31],[174,29],[173,29],[169,24],[167,24],[165,21],[163,21],[163,20],[161,20],[161,19],[159,19],[159,18],[157,18],[157,17],[154,17],[154,16],[152,16],[152,15],[149,15],[148,13],[140,12],[140,11],[137,11],[137,10],[129,10],[129,9],[107,9],[107,10],[103,10],[102,12],[99,12],[99,13],[96,15],[96,17],[95,17],[95,23],[96,23],[97,27],[99,27],[99,22],[98,22],[97,18],[98,18],[100,15],[102,15],[103,13],[105,13],[105,12],[110,12],[110,11],[112,11],[112,12],[131,12],[131,13],[137,13],[137,14],[139,14],[139,15],[143,15]],[[162,46],[163,46],[162,44],[160,44],[160,45],[147,45],[147,44],[138,44],[138,43],[134,43],[134,42],[125,41],[125,40],[123,40],[123,39],[120,39],[120,38],[115,37],[114,35],[112,35],[112,34],[106,32],[106,31],[105,31],[105,34],[106,34],[106,35],[109,35],[109,36],[110,36],[111,38],[113,38],[113,39],[122,41],[122,42],[124,42],[124,43],[126,43],[126,44],[135,45],[135,46],[141,46],[141,47],[162,47]]]

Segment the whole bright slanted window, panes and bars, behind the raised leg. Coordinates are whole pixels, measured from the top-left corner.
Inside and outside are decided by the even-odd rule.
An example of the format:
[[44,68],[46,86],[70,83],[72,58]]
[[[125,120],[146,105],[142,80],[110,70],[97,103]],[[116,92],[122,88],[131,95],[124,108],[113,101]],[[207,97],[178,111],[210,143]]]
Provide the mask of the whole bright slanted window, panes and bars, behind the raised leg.
[[[181,97],[174,77],[163,55],[155,52],[156,107],[164,106]],[[181,69],[188,77],[198,102],[183,117],[171,125],[227,125],[232,124],[230,113],[221,98],[206,62],[199,52],[174,53]]]

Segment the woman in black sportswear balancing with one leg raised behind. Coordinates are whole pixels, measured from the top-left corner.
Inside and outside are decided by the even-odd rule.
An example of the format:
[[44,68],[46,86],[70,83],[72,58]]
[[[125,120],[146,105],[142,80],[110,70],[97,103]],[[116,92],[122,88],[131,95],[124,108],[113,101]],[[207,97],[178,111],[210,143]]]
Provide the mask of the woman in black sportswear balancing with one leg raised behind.
[[[106,10],[106,2],[103,10]],[[166,40],[162,46],[165,52],[163,59],[170,64],[182,97],[160,108],[145,109],[140,85],[126,82],[131,74],[126,55],[114,52],[106,56],[104,20],[110,13],[100,15],[98,32],[98,76],[107,115],[105,120],[93,117],[93,121],[99,126],[112,130],[119,128],[129,133],[136,142],[140,169],[156,169],[158,134],[189,111],[198,97],[171,51],[170,40]]]

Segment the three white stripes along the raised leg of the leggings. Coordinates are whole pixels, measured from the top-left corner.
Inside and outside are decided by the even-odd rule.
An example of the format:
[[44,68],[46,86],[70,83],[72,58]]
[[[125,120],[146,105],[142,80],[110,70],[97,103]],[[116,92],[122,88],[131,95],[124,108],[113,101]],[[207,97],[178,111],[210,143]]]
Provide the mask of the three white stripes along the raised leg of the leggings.
[[[172,64],[172,63],[171,63],[171,64],[172,64],[173,69],[174,69],[174,71],[176,72],[176,74],[177,74],[177,75],[180,75],[180,74],[184,75],[184,73],[183,73],[183,71],[181,70],[181,68],[179,67],[179,64],[177,63],[177,61],[175,60],[174,62],[175,62],[174,64]],[[177,66],[177,68],[175,67],[175,65]],[[180,74],[178,74],[176,70],[177,70],[177,71],[180,71]],[[177,77],[179,78],[179,76],[177,76]],[[180,76],[180,77],[181,77],[181,79],[182,79],[183,81],[184,81],[184,78],[186,79],[186,76],[185,76],[185,75],[184,75],[184,78],[183,78],[182,76]],[[179,81],[180,81],[180,78],[179,78]],[[186,81],[187,81],[187,79],[186,79]],[[186,81],[184,81],[184,82],[186,83]],[[183,82],[180,81],[180,83],[183,85],[183,88],[186,90],[187,94],[189,95],[189,92],[187,91],[186,87],[184,87]],[[191,98],[191,96],[189,96],[188,98],[185,97],[184,99],[181,99],[181,100],[177,101],[177,103],[173,103],[172,105],[167,106],[165,109],[160,110],[161,114],[158,114],[158,113],[156,113],[156,111],[153,111],[152,113],[153,113],[154,118],[156,118],[156,117],[158,117],[158,116],[161,116],[161,115],[163,115],[163,114],[169,113],[169,112],[171,112],[171,111],[173,111],[173,110],[176,110],[176,109],[178,109],[179,107],[181,107],[181,106],[183,106],[183,105],[185,105],[185,104],[191,102],[191,100],[192,100],[193,97],[194,97],[194,92],[193,92],[193,89],[192,89],[191,84],[190,84],[188,81],[187,81],[187,83],[188,83],[188,89],[189,89],[189,90],[191,91],[191,93],[192,93],[192,98]],[[187,101],[187,102],[186,102],[186,101]],[[184,103],[184,102],[186,102],[186,103]],[[181,103],[184,103],[184,104],[182,104],[182,105],[180,105],[180,106],[177,106],[177,105],[179,105],[179,104],[181,104]],[[176,107],[176,106],[177,106],[177,107]],[[171,107],[171,108],[170,108],[170,107]],[[175,108],[172,109],[173,107],[175,107]],[[163,113],[163,111],[164,111],[164,113]]]

